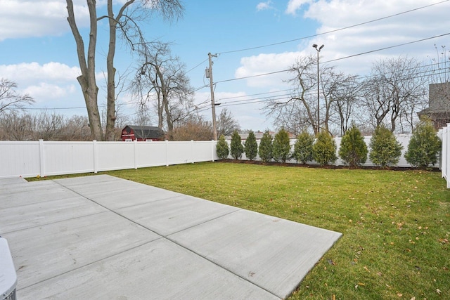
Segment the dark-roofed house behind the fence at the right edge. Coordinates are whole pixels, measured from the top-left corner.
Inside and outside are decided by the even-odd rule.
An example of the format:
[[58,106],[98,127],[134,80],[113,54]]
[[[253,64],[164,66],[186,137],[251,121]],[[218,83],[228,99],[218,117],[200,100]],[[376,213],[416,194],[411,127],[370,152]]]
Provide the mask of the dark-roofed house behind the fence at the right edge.
[[450,82],[430,84],[428,107],[417,115],[431,119],[435,123],[435,129],[450,123]]

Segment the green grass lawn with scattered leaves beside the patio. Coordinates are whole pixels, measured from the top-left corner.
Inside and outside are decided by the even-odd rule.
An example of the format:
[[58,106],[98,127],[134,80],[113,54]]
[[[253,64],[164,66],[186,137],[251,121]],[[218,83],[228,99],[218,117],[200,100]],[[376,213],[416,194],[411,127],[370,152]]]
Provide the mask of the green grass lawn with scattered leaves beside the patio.
[[439,172],[207,162],[105,174],[343,233],[291,300],[450,299]]

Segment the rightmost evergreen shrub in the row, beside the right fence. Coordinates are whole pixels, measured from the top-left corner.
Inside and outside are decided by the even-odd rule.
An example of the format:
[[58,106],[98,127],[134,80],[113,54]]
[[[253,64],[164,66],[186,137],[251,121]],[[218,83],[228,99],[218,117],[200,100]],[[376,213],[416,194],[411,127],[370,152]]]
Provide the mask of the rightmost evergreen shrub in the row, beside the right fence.
[[406,162],[413,167],[427,169],[430,164],[436,164],[441,147],[441,140],[437,137],[432,123],[421,122],[409,141],[408,150],[405,153]]

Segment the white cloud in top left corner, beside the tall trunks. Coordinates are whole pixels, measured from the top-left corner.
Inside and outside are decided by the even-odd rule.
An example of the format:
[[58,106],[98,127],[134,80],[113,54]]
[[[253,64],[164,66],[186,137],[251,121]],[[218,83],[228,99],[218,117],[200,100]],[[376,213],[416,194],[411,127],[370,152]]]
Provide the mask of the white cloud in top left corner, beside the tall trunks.
[[[65,1],[1,0],[0,41],[25,37],[60,35],[70,30]],[[83,1],[75,1],[75,18],[79,26],[89,22]]]

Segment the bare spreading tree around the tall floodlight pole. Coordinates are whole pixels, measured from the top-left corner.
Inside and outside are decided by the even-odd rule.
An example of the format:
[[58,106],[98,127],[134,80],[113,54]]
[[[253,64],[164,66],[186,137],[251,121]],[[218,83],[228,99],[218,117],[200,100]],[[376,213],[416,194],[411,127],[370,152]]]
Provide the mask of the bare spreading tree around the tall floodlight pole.
[[[349,124],[354,103],[357,99],[357,77],[337,72],[335,67],[323,65],[319,70],[320,107],[317,101],[317,58],[308,56],[297,60],[290,67],[295,74],[288,80],[295,91],[288,100],[271,100],[264,107],[268,115],[276,119],[278,126],[283,126],[291,133],[300,133],[312,128],[314,133],[323,128],[330,132],[333,124],[345,131]],[[321,119],[317,119],[320,110]]]

